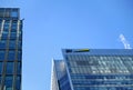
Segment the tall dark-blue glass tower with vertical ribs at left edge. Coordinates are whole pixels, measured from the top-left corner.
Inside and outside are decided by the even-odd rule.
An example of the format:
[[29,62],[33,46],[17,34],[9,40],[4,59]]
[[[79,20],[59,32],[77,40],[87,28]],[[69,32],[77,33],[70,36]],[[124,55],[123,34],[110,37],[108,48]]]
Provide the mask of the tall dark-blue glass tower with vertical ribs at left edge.
[[0,90],[21,90],[22,20],[18,8],[0,8]]

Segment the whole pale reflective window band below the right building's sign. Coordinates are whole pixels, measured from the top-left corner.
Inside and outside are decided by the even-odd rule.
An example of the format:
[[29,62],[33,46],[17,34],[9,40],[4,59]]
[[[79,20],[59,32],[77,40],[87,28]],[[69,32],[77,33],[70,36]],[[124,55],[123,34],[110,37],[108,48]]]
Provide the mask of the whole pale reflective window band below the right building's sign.
[[72,73],[133,73],[133,57],[83,58],[66,62]]

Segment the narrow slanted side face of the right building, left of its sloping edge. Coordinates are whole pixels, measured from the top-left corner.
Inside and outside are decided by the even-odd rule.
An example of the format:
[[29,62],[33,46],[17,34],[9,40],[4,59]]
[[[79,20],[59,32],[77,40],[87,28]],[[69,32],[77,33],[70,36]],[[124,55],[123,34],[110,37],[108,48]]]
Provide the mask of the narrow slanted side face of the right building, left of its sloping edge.
[[63,60],[53,60],[51,90],[71,90]]

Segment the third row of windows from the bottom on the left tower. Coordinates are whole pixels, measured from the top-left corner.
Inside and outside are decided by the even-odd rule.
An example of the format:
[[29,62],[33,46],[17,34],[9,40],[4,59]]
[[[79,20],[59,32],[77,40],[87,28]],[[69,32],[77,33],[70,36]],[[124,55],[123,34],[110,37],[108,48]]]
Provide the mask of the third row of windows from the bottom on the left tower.
[[22,52],[21,51],[16,52],[14,50],[12,51],[10,50],[8,51],[7,58],[6,58],[6,54],[7,54],[6,51],[0,50],[0,61],[3,61],[3,60],[13,61],[16,60],[16,57],[17,57],[17,60],[21,60]]

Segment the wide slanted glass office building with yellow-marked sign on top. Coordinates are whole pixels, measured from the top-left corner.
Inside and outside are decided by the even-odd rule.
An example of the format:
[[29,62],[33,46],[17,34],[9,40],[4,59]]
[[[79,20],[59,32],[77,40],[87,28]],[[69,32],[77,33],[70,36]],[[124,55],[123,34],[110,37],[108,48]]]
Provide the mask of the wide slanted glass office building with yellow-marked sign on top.
[[133,90],[133,49],[63,49],[51,90]]

